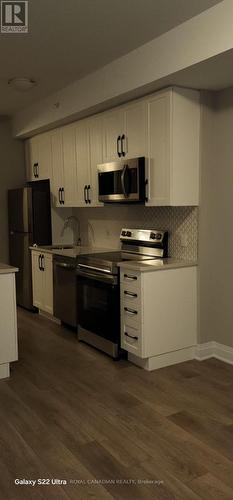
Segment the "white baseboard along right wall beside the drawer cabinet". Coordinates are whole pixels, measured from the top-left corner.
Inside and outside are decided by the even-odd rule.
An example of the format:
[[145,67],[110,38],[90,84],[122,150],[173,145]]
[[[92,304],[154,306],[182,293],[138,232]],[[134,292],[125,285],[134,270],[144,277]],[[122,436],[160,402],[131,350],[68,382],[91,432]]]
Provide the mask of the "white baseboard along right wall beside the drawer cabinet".
[[198,344],[195,352],[195,359],[203,361],[204,359],[216,358],[233,365],[233,347],[229,347],[218,342],[206,342]]

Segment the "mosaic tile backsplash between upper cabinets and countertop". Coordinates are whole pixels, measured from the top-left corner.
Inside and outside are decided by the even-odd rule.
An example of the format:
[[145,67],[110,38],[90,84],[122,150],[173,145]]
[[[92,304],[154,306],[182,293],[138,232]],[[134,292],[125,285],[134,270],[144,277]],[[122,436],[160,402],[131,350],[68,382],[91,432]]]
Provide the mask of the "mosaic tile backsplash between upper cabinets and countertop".
[[197,259],[198,207],[112,206],[75,209],[82,244],[120,248],[122,227],[164,229],[169,232],[169,256]]

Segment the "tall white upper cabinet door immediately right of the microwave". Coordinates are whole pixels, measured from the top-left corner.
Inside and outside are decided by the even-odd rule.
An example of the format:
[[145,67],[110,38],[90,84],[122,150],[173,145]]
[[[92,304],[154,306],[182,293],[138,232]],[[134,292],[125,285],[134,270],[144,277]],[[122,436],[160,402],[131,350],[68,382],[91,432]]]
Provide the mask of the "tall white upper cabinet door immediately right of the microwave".
[[170,92],[148,101],[148,205],[169,204],[170,110]]

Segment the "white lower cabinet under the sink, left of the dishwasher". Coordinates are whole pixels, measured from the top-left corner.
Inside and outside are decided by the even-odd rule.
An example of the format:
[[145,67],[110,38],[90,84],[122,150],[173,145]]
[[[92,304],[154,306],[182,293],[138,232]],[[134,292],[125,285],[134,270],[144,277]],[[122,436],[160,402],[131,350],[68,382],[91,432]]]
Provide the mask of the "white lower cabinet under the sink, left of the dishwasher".
[[33,305],[53,314],[53,256],[32,251]]

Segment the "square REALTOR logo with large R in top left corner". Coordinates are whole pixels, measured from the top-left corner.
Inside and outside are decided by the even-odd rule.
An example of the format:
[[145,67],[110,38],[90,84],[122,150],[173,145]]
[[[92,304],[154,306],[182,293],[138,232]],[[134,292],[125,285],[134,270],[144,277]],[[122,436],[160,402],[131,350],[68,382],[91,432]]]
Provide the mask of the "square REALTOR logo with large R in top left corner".
[[28,1],[1,0],[1,33],[28,33]]

